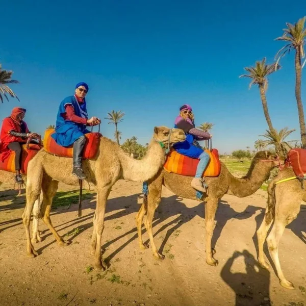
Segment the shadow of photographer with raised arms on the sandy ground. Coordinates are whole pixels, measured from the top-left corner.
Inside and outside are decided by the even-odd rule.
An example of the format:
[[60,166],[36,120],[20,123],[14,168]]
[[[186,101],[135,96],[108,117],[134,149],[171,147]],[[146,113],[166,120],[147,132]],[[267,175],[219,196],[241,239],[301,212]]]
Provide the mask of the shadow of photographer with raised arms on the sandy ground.
[[[244,258],[246,273],[233,272],[234,261],[240,256]],[[247,250],[243,252],[235,251],[223,266],[220,276],[235,292],[236,306],[271,305],[269,295],[270,272],[263,269]]]

